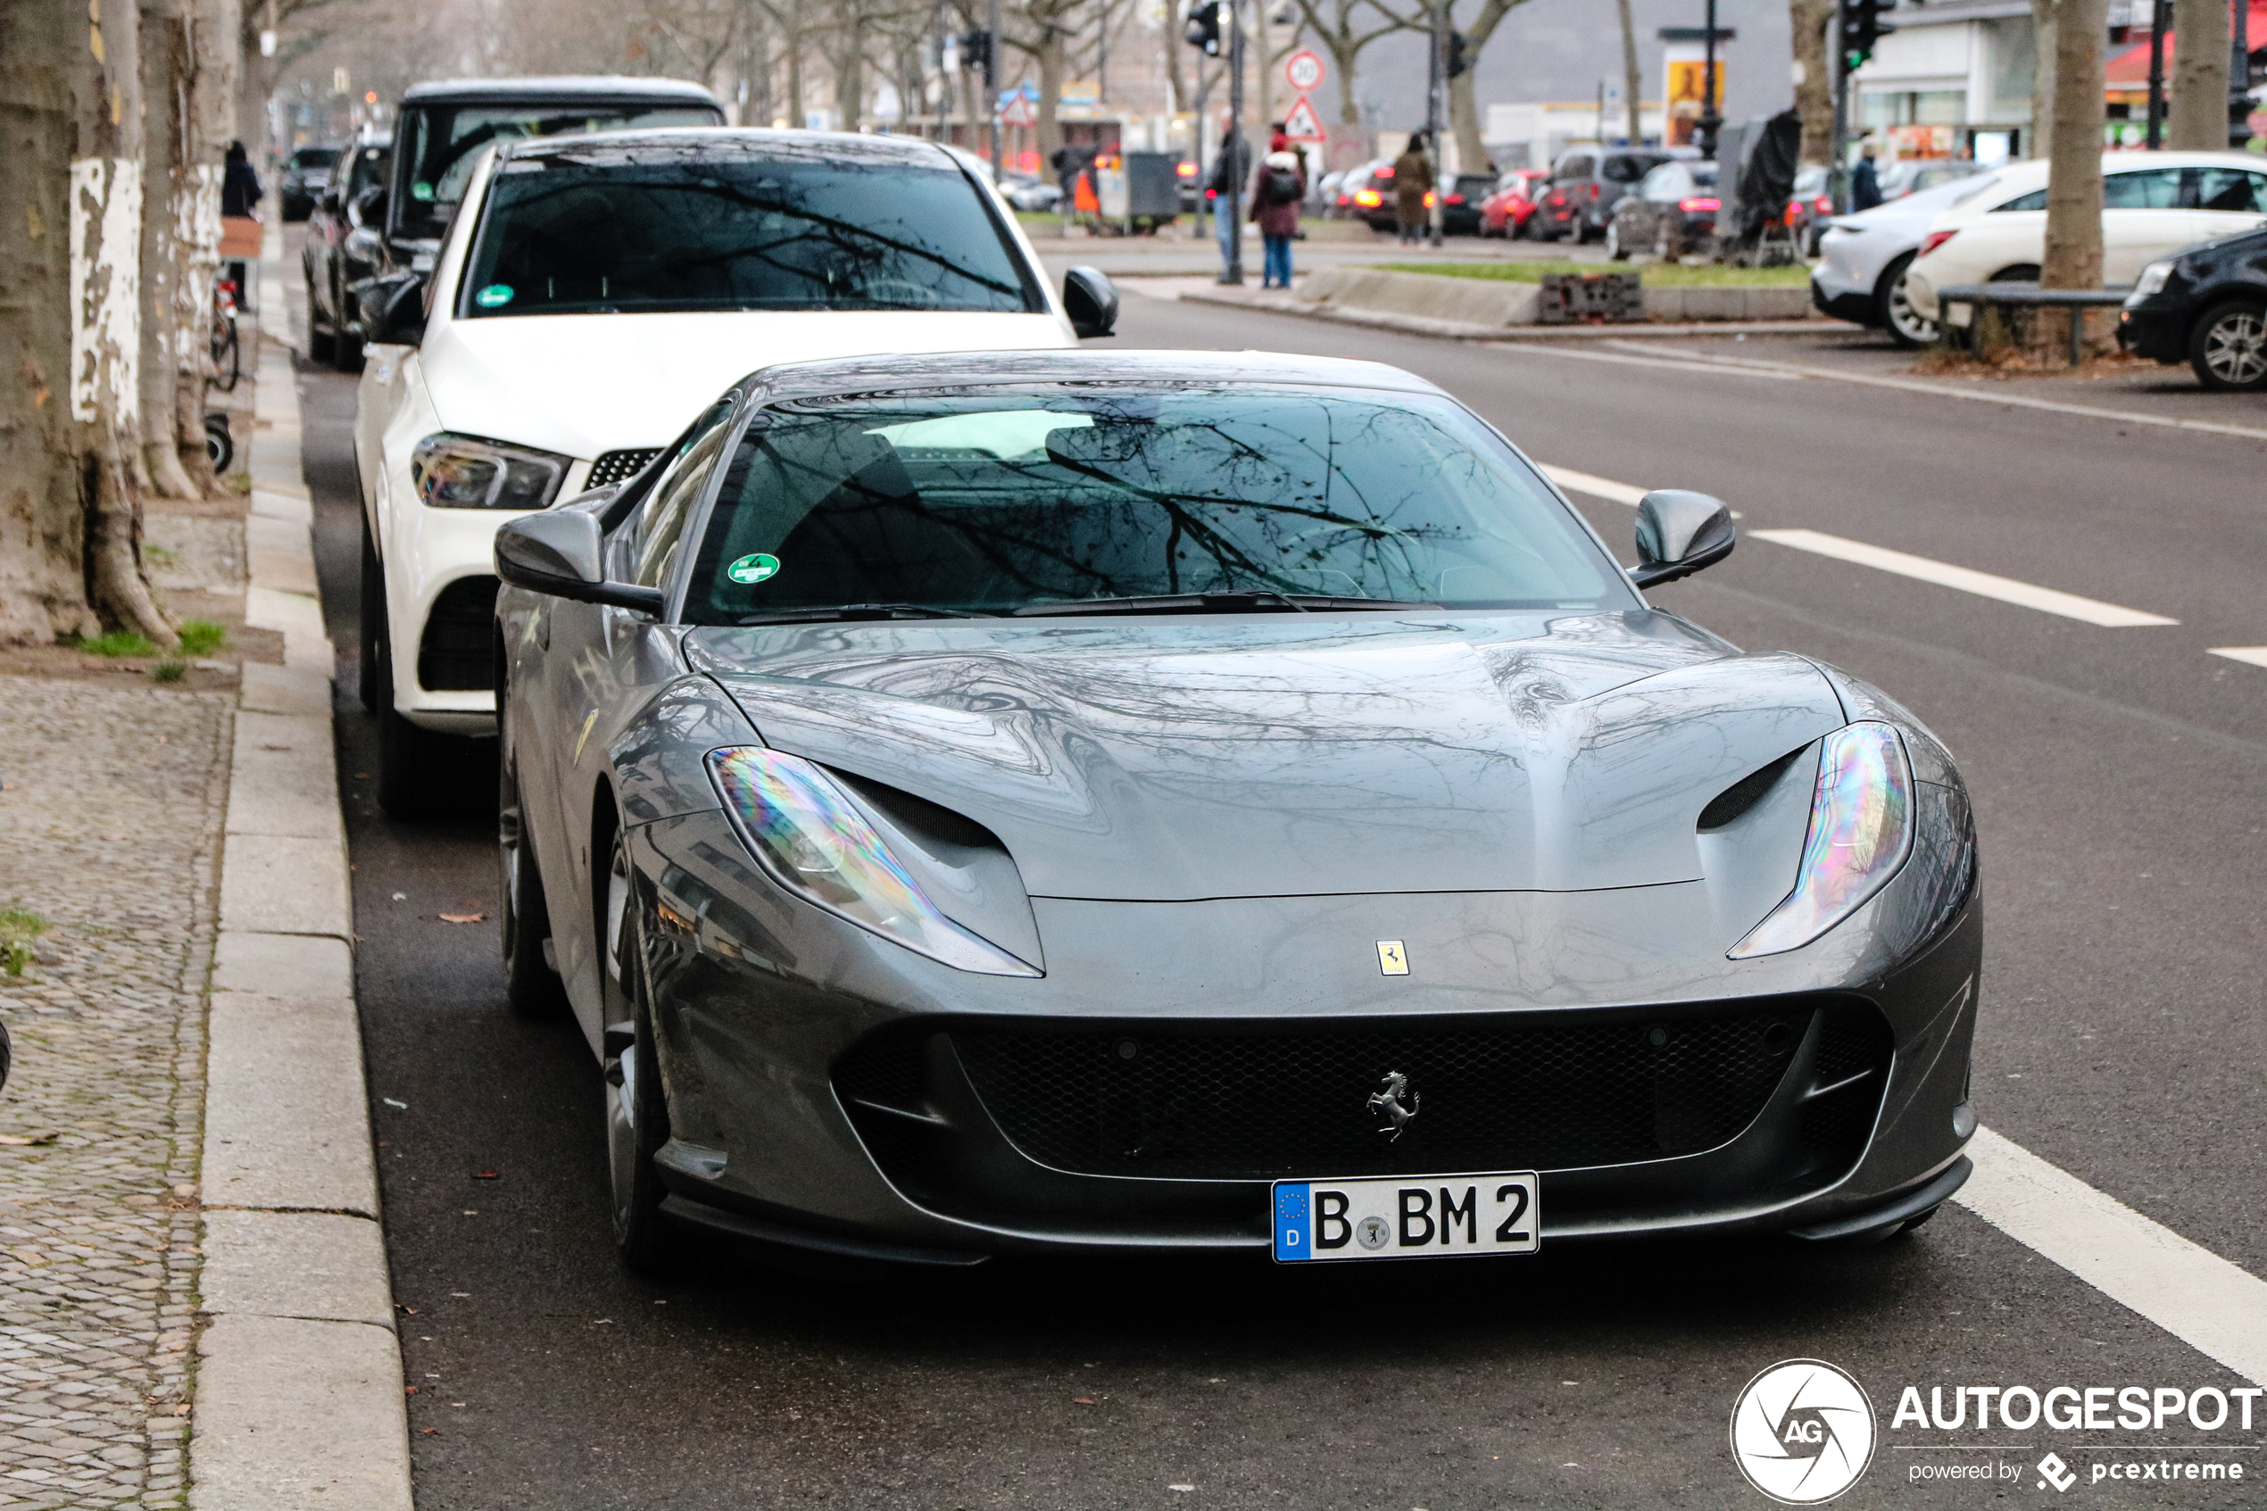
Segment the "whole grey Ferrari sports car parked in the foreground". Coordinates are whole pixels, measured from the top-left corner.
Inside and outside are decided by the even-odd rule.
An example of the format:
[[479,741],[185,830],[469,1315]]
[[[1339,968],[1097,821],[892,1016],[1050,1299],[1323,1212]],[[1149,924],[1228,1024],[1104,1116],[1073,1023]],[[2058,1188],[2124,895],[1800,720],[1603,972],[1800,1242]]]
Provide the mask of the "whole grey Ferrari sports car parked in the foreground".
[[614,1237],[925,1264],[1875,1239],[1968,1176],[1975,825],[1351,360],[762,369],[503,526],[506,974]]

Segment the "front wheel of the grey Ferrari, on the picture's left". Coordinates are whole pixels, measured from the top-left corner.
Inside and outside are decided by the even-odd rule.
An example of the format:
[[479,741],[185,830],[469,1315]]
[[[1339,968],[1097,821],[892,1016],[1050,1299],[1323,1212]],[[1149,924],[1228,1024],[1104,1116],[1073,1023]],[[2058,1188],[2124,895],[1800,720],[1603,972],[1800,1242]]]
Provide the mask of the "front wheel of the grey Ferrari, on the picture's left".
[[605,1171],[614,1253],[637,1275],[673,1266],[678,1237],[662,1217],[662,1176],[653,1155],[669,1142],[669,1105],[653,1056],[653,976],[646,967],[646,924],[630,877],[628,838],[614,831],[605,874]]

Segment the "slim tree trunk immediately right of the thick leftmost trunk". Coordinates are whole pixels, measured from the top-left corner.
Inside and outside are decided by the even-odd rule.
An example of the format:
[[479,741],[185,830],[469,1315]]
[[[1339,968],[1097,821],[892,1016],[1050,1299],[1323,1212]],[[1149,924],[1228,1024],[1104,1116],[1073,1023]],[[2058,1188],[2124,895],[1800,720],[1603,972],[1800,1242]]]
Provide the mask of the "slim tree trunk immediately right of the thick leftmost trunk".
[[[141,412],[143,462],[152,492],[165,498],[202,498],[181,469],[175,435],[175,369],[181,351],[181,279],[188,274],[179,245],[179,215],[188,136],[188,16],[179,0],[143,0],[143,342]],[[202,430],[202,426],[199,426]]]

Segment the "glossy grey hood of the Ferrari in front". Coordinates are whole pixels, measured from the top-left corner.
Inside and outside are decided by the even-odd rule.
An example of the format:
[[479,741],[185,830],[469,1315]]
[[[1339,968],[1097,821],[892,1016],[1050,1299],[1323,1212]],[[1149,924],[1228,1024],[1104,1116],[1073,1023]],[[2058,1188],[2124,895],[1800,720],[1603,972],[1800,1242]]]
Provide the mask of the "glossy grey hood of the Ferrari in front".
[[[1841,727],[1669,614],[696,630],[789,754],[954,809],[1036,897],[1700,879],[1700,809]],[[1798,840],[1800,843],[1800,840]]]

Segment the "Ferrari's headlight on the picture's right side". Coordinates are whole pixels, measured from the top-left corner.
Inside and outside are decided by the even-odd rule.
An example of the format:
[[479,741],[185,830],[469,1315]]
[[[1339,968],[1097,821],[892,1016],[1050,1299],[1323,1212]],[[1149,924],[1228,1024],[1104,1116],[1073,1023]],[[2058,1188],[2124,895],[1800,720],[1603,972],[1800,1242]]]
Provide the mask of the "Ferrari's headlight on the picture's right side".
[[1913,847],[1913,768],[1897,729],[1843,725],[1818,752],[1795,890],[1732,947],[1734,961],[1809,945],[1888,886]]

